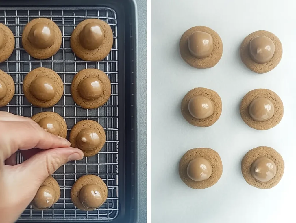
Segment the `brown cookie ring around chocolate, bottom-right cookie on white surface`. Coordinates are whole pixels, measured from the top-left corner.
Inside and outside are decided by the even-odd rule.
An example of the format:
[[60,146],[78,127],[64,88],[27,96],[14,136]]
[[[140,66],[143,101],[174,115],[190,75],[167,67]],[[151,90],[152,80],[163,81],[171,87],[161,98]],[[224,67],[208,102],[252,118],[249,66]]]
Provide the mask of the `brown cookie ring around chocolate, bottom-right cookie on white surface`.
[[[255,179],[255,177],[251,174],[252,164],[260,157],[267,157],[276,165],[275,176],[267,182],[261,182]],[[268,189],[276,186],[284,174],[284,169],[285,163],[281,155],[273,148],[267,146],[259,146],[250,150],[242,159],[242,175],[244,176],[244,179],[248,184],[260,189]]]

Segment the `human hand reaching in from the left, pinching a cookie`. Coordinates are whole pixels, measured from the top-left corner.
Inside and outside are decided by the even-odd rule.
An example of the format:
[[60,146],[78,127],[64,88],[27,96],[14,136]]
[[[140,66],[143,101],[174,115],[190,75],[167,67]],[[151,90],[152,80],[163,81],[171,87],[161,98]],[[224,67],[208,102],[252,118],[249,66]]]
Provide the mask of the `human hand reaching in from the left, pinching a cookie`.
[[[25,159],[18,165],[17,150]],[[82,158],[80,149],[32,119],[0,112],[0,221],[15,222],[46,177],[66,162]]]

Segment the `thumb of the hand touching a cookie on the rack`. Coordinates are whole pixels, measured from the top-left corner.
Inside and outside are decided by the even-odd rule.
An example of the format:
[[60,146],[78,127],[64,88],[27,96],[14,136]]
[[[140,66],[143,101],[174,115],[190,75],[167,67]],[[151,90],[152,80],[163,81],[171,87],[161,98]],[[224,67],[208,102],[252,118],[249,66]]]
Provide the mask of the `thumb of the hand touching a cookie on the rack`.
[[22,169],[26,181],[41,185],[46,177],[53,174],[60,166],[71,160],[81,160],[83,152],[78,148],[65,147],[43,150],[25,160],[18,166]]

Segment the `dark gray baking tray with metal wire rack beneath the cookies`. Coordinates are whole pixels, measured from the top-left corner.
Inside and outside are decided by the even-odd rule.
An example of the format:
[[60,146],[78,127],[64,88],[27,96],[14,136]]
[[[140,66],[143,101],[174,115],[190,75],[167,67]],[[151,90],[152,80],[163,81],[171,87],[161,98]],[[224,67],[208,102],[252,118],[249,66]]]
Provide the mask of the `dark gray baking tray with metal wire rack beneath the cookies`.
[[[16,7],[17,6],[17,7]],[[19,222],[137,222],[136,147],[134,138],[136,12],[133,1],[1,1],[0,22],[15,35],[15,51],[0,64],[0,69],[15,81],[15,96],[0,110],[17,115],[32,116],[41,111],[62,115],[68,126],[83,119],[98,121],[105,129],[106,144],[101,152],[81,161],[73,161],[59,168],[57,179],[61,197],[45,211],[24,211]],[[62,31],[59,52],[47,60],[36,60],[22,48],[21,34],[25,25],[36,17],[52,19]],[[110,54],[100,62],[85,62],[70,48],[70,36],[75,26],[86,18],[99,18],[112,28],[114,44]],[[56,71],[64,82],[62,99],[51,108],[32,106],[22,92],[24,76],[37,67]],[[84,68],[98,68],[110,78],[112,92],[108,102],[99,109],[82,109],[71,97],[73,76]],[[18,162],[22,161],[19,154]],[[80,176],[95,174],[108,187],[108,199],[94,211],[80,211],[70,200],[71,186]]]

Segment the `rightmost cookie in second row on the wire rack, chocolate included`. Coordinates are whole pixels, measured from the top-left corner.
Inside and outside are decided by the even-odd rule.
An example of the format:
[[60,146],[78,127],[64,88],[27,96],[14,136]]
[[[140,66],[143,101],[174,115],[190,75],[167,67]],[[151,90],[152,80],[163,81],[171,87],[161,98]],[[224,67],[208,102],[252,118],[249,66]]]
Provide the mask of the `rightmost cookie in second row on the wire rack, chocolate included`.
[[[91,84],[91,81],[96,85]],[[103,71],[93,68],[83,69],[72,80],[71,94],[76,104],[82,108],[98,108],[110,98],[111,83]]]

